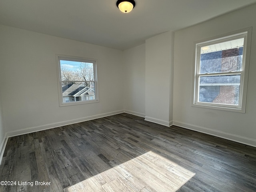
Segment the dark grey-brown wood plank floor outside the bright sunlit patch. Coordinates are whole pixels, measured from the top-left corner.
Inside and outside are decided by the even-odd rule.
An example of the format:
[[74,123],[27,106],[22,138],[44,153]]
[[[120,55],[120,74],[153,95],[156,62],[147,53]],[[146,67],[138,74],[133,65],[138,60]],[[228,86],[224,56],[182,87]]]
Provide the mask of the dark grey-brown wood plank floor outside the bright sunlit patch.
[[150,151],[195,173],[178,192],[256,192],[256,148],[125,113],[9,138],[0,181],[16,185],[0,191],[71,191]]

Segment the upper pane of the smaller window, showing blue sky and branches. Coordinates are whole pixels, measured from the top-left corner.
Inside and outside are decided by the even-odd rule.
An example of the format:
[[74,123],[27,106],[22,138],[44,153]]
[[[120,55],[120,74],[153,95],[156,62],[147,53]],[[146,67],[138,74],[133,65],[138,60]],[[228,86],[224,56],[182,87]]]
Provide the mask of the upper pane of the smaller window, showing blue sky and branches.
[[94,81],[94,65],[90,62],[60,60],[62,81]]

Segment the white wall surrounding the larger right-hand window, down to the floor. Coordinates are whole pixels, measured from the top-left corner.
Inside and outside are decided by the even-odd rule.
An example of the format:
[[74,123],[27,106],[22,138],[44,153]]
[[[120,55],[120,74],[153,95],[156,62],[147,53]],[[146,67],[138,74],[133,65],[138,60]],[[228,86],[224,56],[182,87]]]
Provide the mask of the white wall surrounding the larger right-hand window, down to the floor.
[[[256,146],[256,5],[175,32],[174,124]],[[246,113],[192,107],[194,42],[252,26]]]

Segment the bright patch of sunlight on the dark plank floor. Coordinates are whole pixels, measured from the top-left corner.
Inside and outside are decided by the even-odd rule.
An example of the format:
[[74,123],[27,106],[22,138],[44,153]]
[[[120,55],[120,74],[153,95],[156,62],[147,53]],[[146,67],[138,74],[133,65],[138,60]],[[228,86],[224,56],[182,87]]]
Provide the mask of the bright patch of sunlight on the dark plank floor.
[[150,151],[69,186],[64,192],[175,192],[194,175]]

